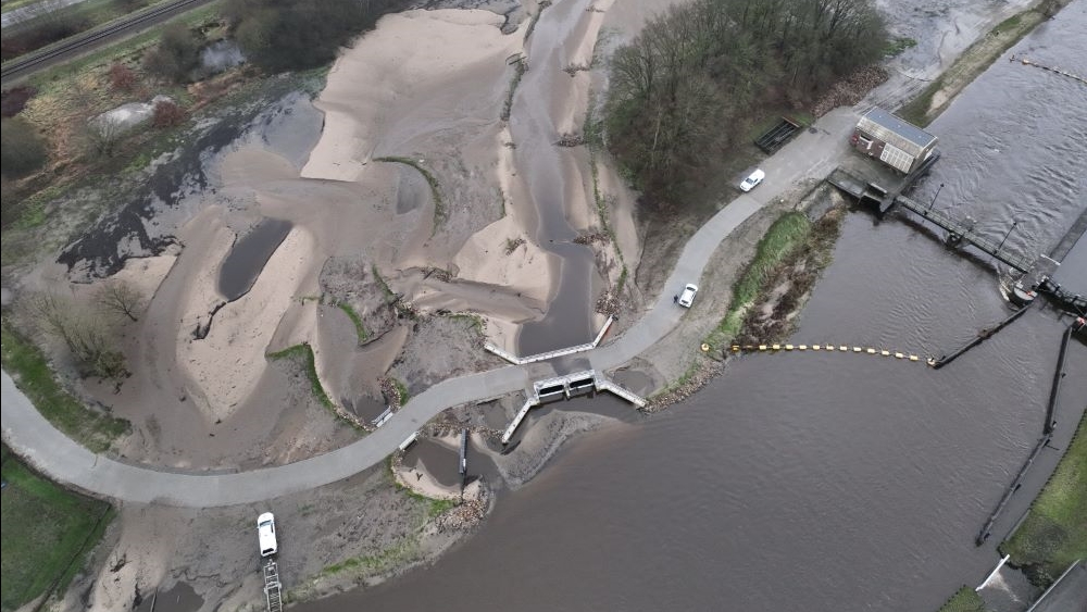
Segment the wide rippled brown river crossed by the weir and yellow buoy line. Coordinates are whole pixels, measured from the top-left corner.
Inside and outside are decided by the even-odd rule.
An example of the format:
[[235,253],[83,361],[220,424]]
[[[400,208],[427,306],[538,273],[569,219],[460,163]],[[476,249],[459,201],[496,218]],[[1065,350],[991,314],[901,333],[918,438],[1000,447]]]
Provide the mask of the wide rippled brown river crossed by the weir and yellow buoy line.
[[[1015,49],[1087,72],[1087,1]],[[549,9],[550,10],[550,9]],[[1087,89],[998,61],[932,126],[914,196],[1048,252],[1087,205]],[[1087,243],[1060,278],[1087,287]],[[1003,319],[991,263],[898,222],[847,217],[794,342],[953,347]],[[434,566],[299,610],[935,611],[997,563],[1047,449],[994,537],[974,537],[1041,434],[1064,321],[1035,307],[940,371],[842,353],[750,355],[669,412],[586,434]],[[1074,342],[1053,446],[1087,398]]]

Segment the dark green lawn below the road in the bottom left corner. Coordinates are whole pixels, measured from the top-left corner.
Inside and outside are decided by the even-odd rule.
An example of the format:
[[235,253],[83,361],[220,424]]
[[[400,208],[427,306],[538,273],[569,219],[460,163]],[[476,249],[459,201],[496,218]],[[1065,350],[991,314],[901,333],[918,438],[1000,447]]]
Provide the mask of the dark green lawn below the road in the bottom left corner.
[[0,603],[14,610],[63,591],[111,519],[110,504],[67,491],[26,469],[4,448],[0,500]]

